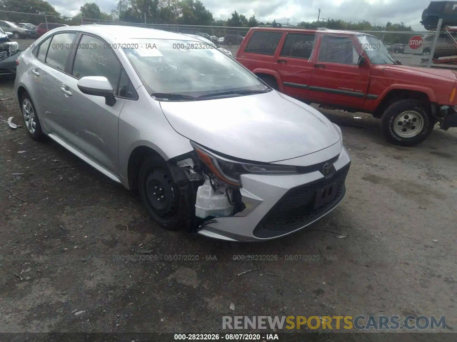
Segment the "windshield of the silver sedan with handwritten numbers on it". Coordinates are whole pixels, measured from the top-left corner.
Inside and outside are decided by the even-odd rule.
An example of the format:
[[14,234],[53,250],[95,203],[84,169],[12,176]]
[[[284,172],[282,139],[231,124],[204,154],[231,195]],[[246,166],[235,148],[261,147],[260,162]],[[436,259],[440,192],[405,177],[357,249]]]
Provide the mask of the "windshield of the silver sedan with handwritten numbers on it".
[[[202,41],[135,39],[123,46],[150,93],[201,96],[226,91],[268,90],[233,58]],[[130,45],[129,45],[130,44]]]

